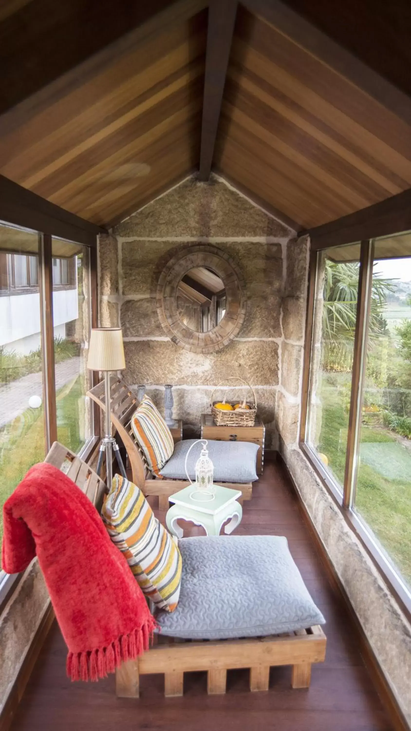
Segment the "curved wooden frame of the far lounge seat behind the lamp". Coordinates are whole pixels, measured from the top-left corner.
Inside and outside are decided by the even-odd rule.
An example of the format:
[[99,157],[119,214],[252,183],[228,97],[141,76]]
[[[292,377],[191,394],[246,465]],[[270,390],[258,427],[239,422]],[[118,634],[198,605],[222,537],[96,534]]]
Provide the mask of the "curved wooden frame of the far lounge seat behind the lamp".
[[[94,386],[87,395],[100,406],[105,412],[106,404],[104,398],[104,381]],[[112,425],[118,432],[121,441],[126,447],[128,461],[131,466],[131,474],[134,485],[145,494],[158,496],[158,507],[160,510],[167,510],[169,507],[169,496],[186,488],[188,482],[185,480],[156,480],[147,469],[147,463],[142,451],[137,444],[134,433],[131,429],[131,417],[139,405],[137,396],[128,387],[123,379],[112,376],[110,378],[111,397],[111,420]],[[253,485],[251,482],[224,482],[227,488],[242,492],[242,500],[250,500]],[[240,499],[241,500],[241,499]]]

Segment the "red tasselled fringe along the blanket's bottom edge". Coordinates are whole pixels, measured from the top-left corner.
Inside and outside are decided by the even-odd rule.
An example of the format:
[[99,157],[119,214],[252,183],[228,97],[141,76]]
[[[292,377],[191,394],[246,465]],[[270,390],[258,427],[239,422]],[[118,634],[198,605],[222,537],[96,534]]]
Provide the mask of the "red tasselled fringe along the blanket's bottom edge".
[[122,662],[134,660],[150,646],[155,623],[150,622],[137,627],[129,635],[116,637],[110,645],[85,652],[69,652],[66,672],[72,681],[98,681],[114,673]]

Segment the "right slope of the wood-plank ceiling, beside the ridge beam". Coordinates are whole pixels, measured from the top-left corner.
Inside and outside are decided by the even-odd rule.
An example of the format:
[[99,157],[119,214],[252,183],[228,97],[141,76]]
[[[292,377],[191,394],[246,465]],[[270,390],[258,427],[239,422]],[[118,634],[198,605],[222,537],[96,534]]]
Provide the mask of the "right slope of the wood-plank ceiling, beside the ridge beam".
[[411,129],[242,7],[215,164],[303,227],[411,186]]

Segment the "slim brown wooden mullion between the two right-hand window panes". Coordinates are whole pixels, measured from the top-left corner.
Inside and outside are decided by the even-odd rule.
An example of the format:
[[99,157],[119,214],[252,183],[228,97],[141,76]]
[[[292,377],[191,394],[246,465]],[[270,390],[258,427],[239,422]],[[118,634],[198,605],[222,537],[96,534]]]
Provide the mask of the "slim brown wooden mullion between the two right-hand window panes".
[[358,471],[358,449],[361,433],[361,414],[366,374],[366,346],[372,294],[372,262],[374,244],[361,241],[360,273],[354,337],[353,374],[351,378],[350,416],[348,419],[347,458],[345,462],[343,506],[352,507]]

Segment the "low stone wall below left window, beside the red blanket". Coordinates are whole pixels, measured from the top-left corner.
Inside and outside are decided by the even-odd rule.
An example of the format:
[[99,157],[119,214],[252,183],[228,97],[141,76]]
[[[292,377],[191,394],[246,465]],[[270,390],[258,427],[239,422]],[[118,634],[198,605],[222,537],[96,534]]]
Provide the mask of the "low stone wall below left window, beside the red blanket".
[[0,713],[48,603],[45,580],[34,558],[0,616]]

